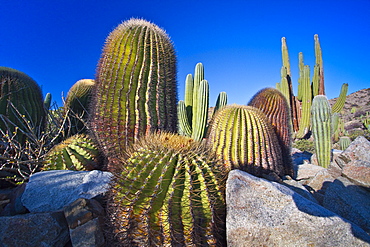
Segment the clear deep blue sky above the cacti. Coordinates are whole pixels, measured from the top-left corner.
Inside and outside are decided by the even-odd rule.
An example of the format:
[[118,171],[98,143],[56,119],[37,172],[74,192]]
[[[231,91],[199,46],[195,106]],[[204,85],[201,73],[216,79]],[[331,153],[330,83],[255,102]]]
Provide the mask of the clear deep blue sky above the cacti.
[[0,0],[0,66],[25,72],[61,95],[79,79],[94,79],[105,38],[122,21],[140,17],[166,30],[178,57],[178,95],[202,62],[210,105],[226,91],[246,104],[280,81],[281,37],[287,38],[293,88],[298,53],[314,65],[314,34],[323,50],[326,94],[370,87],[370,0],[124,1]]

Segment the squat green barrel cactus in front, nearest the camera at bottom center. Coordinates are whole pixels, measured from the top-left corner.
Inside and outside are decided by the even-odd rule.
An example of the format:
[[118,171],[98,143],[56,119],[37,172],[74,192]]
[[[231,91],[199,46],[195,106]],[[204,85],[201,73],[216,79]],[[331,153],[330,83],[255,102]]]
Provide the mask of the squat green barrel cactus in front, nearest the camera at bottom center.
[[226,174],[202,143],[149,134],[129,149],[115,177],[110,246],[225,246]]

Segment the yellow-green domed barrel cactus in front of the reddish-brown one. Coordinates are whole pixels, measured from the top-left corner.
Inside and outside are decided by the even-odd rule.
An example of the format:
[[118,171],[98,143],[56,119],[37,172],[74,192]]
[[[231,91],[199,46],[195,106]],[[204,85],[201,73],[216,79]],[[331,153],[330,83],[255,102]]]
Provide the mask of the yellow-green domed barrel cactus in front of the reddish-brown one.
[[241,169],[255,176],[285,174],[276,133],[266,115],[255,107],[223,107],[210,123],[207,142],[227,170]]

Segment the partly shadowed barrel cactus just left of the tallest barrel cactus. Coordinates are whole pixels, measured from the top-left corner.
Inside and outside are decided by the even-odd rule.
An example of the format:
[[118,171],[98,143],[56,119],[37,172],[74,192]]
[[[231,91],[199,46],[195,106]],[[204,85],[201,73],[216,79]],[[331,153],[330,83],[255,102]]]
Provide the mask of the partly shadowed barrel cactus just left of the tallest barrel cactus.
[[67,117],[64,126],[66,136],[73,136],[86,130],[94,86],[94,80],[82,79],[69,89],[63,106],[64,116]]

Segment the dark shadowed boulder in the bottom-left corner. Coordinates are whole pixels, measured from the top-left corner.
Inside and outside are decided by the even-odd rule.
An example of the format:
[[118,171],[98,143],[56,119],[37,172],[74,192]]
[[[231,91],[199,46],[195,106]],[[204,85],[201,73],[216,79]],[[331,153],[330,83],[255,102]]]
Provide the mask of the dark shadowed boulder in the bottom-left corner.
[[0,217],[0,246],[63,247],[69,241],[63,212]]

